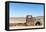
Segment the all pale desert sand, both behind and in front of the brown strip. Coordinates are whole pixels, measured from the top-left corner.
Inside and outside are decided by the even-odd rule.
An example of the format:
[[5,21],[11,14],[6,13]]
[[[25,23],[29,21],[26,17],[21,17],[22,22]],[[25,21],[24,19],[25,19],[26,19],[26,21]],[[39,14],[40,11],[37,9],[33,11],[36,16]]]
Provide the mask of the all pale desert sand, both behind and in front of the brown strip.
[[[26,18],[10,18],[9,23],[25,23]],[[42,26],[10,26],[9,29],[41,28]]]

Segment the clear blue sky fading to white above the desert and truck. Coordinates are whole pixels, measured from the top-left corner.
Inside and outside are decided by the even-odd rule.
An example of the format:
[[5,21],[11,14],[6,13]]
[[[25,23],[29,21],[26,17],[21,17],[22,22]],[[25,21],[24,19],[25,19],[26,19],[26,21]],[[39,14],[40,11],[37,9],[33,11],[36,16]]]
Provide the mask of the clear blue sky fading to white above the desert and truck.
[[10,3],[10,17],[43,16],[43,5]]

